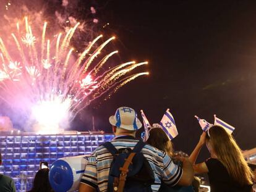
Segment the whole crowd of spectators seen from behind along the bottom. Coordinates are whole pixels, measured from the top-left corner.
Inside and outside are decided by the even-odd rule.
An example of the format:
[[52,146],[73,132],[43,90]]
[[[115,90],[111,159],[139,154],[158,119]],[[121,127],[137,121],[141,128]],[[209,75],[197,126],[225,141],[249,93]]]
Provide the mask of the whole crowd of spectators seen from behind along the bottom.
[[[134,149],[140,140],[135,138],[135,133],[142,127],[134,109],[120,107],[116,114],[109,117],[109,123],[115,135],[110,142],[114,148],[117,151],[122,148]],[[210,158],[196,164],[197,156],[204,145],[210,152]],[[203,131],[190,156],[174,152],[173,143],[163,129],[153,126],[141,152],[153,172],[154,182],[149,191],[198,191],[200,180],[195,174],[200,173],[208,174],[212,192],[252,192],[256,188],[256,165],[247,164],[233,136],[220,126],[215,125]],[[119,191],[115,188],[109,189],[108,177],[114,158],[105,146],[96,148],[88,157],[79,191]],[[0,191],[15,191],[12,178],[0,174]],[[49,184],[49,169],[38,170],[33,187],[28,192],[54,192]]]

